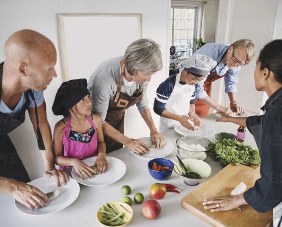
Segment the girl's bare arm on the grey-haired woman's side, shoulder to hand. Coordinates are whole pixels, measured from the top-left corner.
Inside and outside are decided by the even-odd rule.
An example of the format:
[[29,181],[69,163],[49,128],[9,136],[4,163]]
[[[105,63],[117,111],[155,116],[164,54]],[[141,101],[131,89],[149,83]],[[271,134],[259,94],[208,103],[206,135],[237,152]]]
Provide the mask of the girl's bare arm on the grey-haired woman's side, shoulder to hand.
[[93,122],[97,129],[97,144],[98,144],[98,156],[96,159],[97,171],[99,173],[104,173],[108,169],[108,162],[106,159],[106,144],[104,142],[102,121],[98,115],[94,114]]

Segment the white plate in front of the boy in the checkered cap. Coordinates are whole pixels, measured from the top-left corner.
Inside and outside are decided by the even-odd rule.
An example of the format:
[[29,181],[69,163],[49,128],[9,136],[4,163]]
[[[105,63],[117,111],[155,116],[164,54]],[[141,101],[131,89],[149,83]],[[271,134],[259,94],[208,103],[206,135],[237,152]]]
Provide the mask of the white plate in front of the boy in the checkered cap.
[[174,130],[183,136],[208,136],[213,133],[213,128],[206,123],[202,123],[198,130],[192,131],[181,124],[174,126]]

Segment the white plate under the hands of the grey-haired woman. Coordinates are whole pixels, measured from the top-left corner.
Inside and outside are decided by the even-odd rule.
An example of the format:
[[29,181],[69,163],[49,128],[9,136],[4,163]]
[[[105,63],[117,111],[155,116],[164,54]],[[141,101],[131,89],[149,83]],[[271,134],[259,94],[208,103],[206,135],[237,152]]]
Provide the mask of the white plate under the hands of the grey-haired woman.
[[[150,137],[142,137],[142,138],[139,138],[139,140],[141,140],[147,146],[151,146],[151,144],[152,144]],[[161,148],[161,149],[151,149],[150,152],[143,154],[143,155],[134,153],[133,151],[130,151],[130,150],[128,150],[128,151],[131,152],[133,155],[135,155],[137,157],[152,159],[152,158],[158,158],[158,157],[165,157],[165,156],[171,154],[173,149],[174,149],[173,144],[169,140],[166,140],[165,146],[163,148]]]

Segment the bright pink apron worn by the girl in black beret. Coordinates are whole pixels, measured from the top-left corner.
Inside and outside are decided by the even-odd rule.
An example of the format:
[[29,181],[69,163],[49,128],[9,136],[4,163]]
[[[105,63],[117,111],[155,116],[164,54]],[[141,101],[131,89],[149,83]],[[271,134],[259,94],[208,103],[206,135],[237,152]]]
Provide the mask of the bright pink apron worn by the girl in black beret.
[[[98,155],[98,145],[97,145],[97,129],[94,125],[94,122],[91,120],[91,118],[87,115],[85,115],[88,119],[89,123],[94,128],[94,135],[91,138],[91,141],[89,143],[82,143],[75,140],[71,140],[69,138],[70,135],[70,125],[71,120],[70,116],[67,117],[67,126],[64,128],[64,137],[63,137],[63,145],[64,145],[64,157],[72,157],[72,158],[78,158],[78,159],[85,159],[88,157],[93,157]],[[68,169],[71,166],[60,166],[60,170]]]

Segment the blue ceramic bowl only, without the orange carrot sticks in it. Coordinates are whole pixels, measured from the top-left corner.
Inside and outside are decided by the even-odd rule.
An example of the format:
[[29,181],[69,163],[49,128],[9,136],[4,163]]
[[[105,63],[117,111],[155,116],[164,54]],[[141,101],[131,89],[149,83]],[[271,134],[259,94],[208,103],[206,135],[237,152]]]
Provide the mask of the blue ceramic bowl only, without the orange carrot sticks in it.
[[[165,171],[152,170],[152,166],[154,162],[156,162],[157,165],[168,166],[169,169]],[[174,167],[173,162],[166,158],[154,158],[148,162],[148,170],[150,175],[158,181],[167,180],[172,174],[173,167]]]

